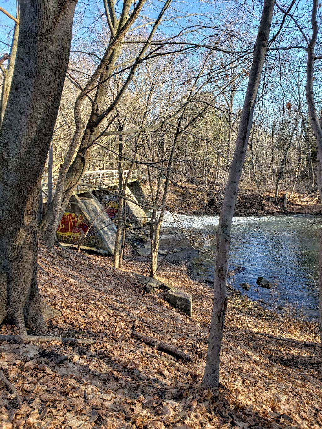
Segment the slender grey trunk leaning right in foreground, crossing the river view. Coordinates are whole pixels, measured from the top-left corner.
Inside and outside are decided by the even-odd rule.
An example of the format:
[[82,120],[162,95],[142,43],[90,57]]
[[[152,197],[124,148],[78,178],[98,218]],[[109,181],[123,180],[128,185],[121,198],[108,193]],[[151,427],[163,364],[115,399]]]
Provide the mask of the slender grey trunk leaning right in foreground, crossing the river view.
[[252,68],[240,118],[234,157],[229,171],[222,212],[216,233],[216,268],[214,276],[213,313],[210,324],[206,368],[202,384],[204,387],[219,387],[219,364],[222,346],[222,332],[227,309],[227,271],[231,242],[231,223],[237,199],[238,184],[246,157],[252,117],[261,80],[270,25],[273,16],[274,0],[265,0],[261,22],[255,42]]

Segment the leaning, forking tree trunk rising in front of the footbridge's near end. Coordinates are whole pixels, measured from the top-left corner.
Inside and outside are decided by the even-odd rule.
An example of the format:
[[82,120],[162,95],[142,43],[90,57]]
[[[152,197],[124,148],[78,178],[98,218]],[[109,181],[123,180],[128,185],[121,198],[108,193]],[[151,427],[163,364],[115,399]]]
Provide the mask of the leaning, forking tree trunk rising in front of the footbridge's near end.
[[[88,162],[91,160],[92,143],[99,135],[100,123],[109,117],[111,112],[115,109],[119,101],[122,99],[122,96],[128,88],[128,85],[132,81],[132,78],[134,76],[138,64],[140,63],[140,60],[142,59],[143,55],[151,44],[155,30],[161,21],[163,13],[170,5],[171,0],[167,0],[165,5],[163,6],[158,18],[155,21],[148,41],[141,49],[137,59],[134,61],[131,72],[129,73],[121,90],[118,91],[118,94],[116,95],[112,103],[109,105],[109,107],[105,111],[103,111],[106,95],[108,93],[107,88],[109,86],[109,80],[111,79],[112,73],[114,71],[116,60],[122,52],[124,36],[131,28],[131,25],[134,23],[134,21],[137,19],[137,16],[140,13],[144,2],[145,0],[139,0],[139,2],[134,6],[133,11],[129,15],[129,10],[132,5],[132,1],[125,0],[123,2],[122,13],[119,19],[116,19],[115,16],[114,3],[107,2],[109,4],[109,7],[114,10],[111,23],[112,27],[110,27],[110,30],[112,30],[112,33],[114,35],[112,34],[110,37],[109,46],[105,51],[102,61],[100,62],[99,66],[97,66],[93,78],[89,80],[88,85],[86,85],[84,91],[82,92],[82,94],[79,95],[78,99],[76,100],[76,105],[74,109],[76,131],[74,133],[71,144],[73,150],[69,151],[71,155],[74,154],[74,151],[77,148],[77,143],[81,138],[82,141],[79,145],[76,157],[71,163],[71,165],[66,163],[66,166],[64,165],[64,171],[60,173],[60,180],[58,179],[60,186],[58,187],[57,184],[52,207],[46,213],[46,216],[44,217],[44,220],[41,224],[41,234],[43,235],[45,242],[48,245],[51,245],[52,242],[55,242],[55,233],[59,221],[64,214],[65,208],[67,207],[70,197],[73,194],[74,188],[81,180],[83,172],[85,171]],[[107,9],[106,13],[108,13]],[[97,81],[99,82],[98,85]],[[95,94],[94,103],[92,103],[91,114],[89,116],[88,123],[85,127],[82,123],[82,103],[85,100],[86,92],[96,87],[97,91]],[[106,130],[108,127],[109,125],[107,125]],[[82,135],[82,130],[84,130],[84,128],[85,131]],[[70,161],[71,159],[72,156],[70,157]]]

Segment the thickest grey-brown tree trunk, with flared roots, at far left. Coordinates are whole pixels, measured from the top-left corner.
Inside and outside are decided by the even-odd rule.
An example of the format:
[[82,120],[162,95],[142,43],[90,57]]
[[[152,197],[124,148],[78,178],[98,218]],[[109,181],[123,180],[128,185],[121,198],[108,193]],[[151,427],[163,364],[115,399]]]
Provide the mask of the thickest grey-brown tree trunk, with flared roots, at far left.
[[[44,328],[37,287],[40,180],[67,71],[76,0],[21,4],[11,90],[0,130],[0,322]],[[32,54],[30,54],[32,53]]]

